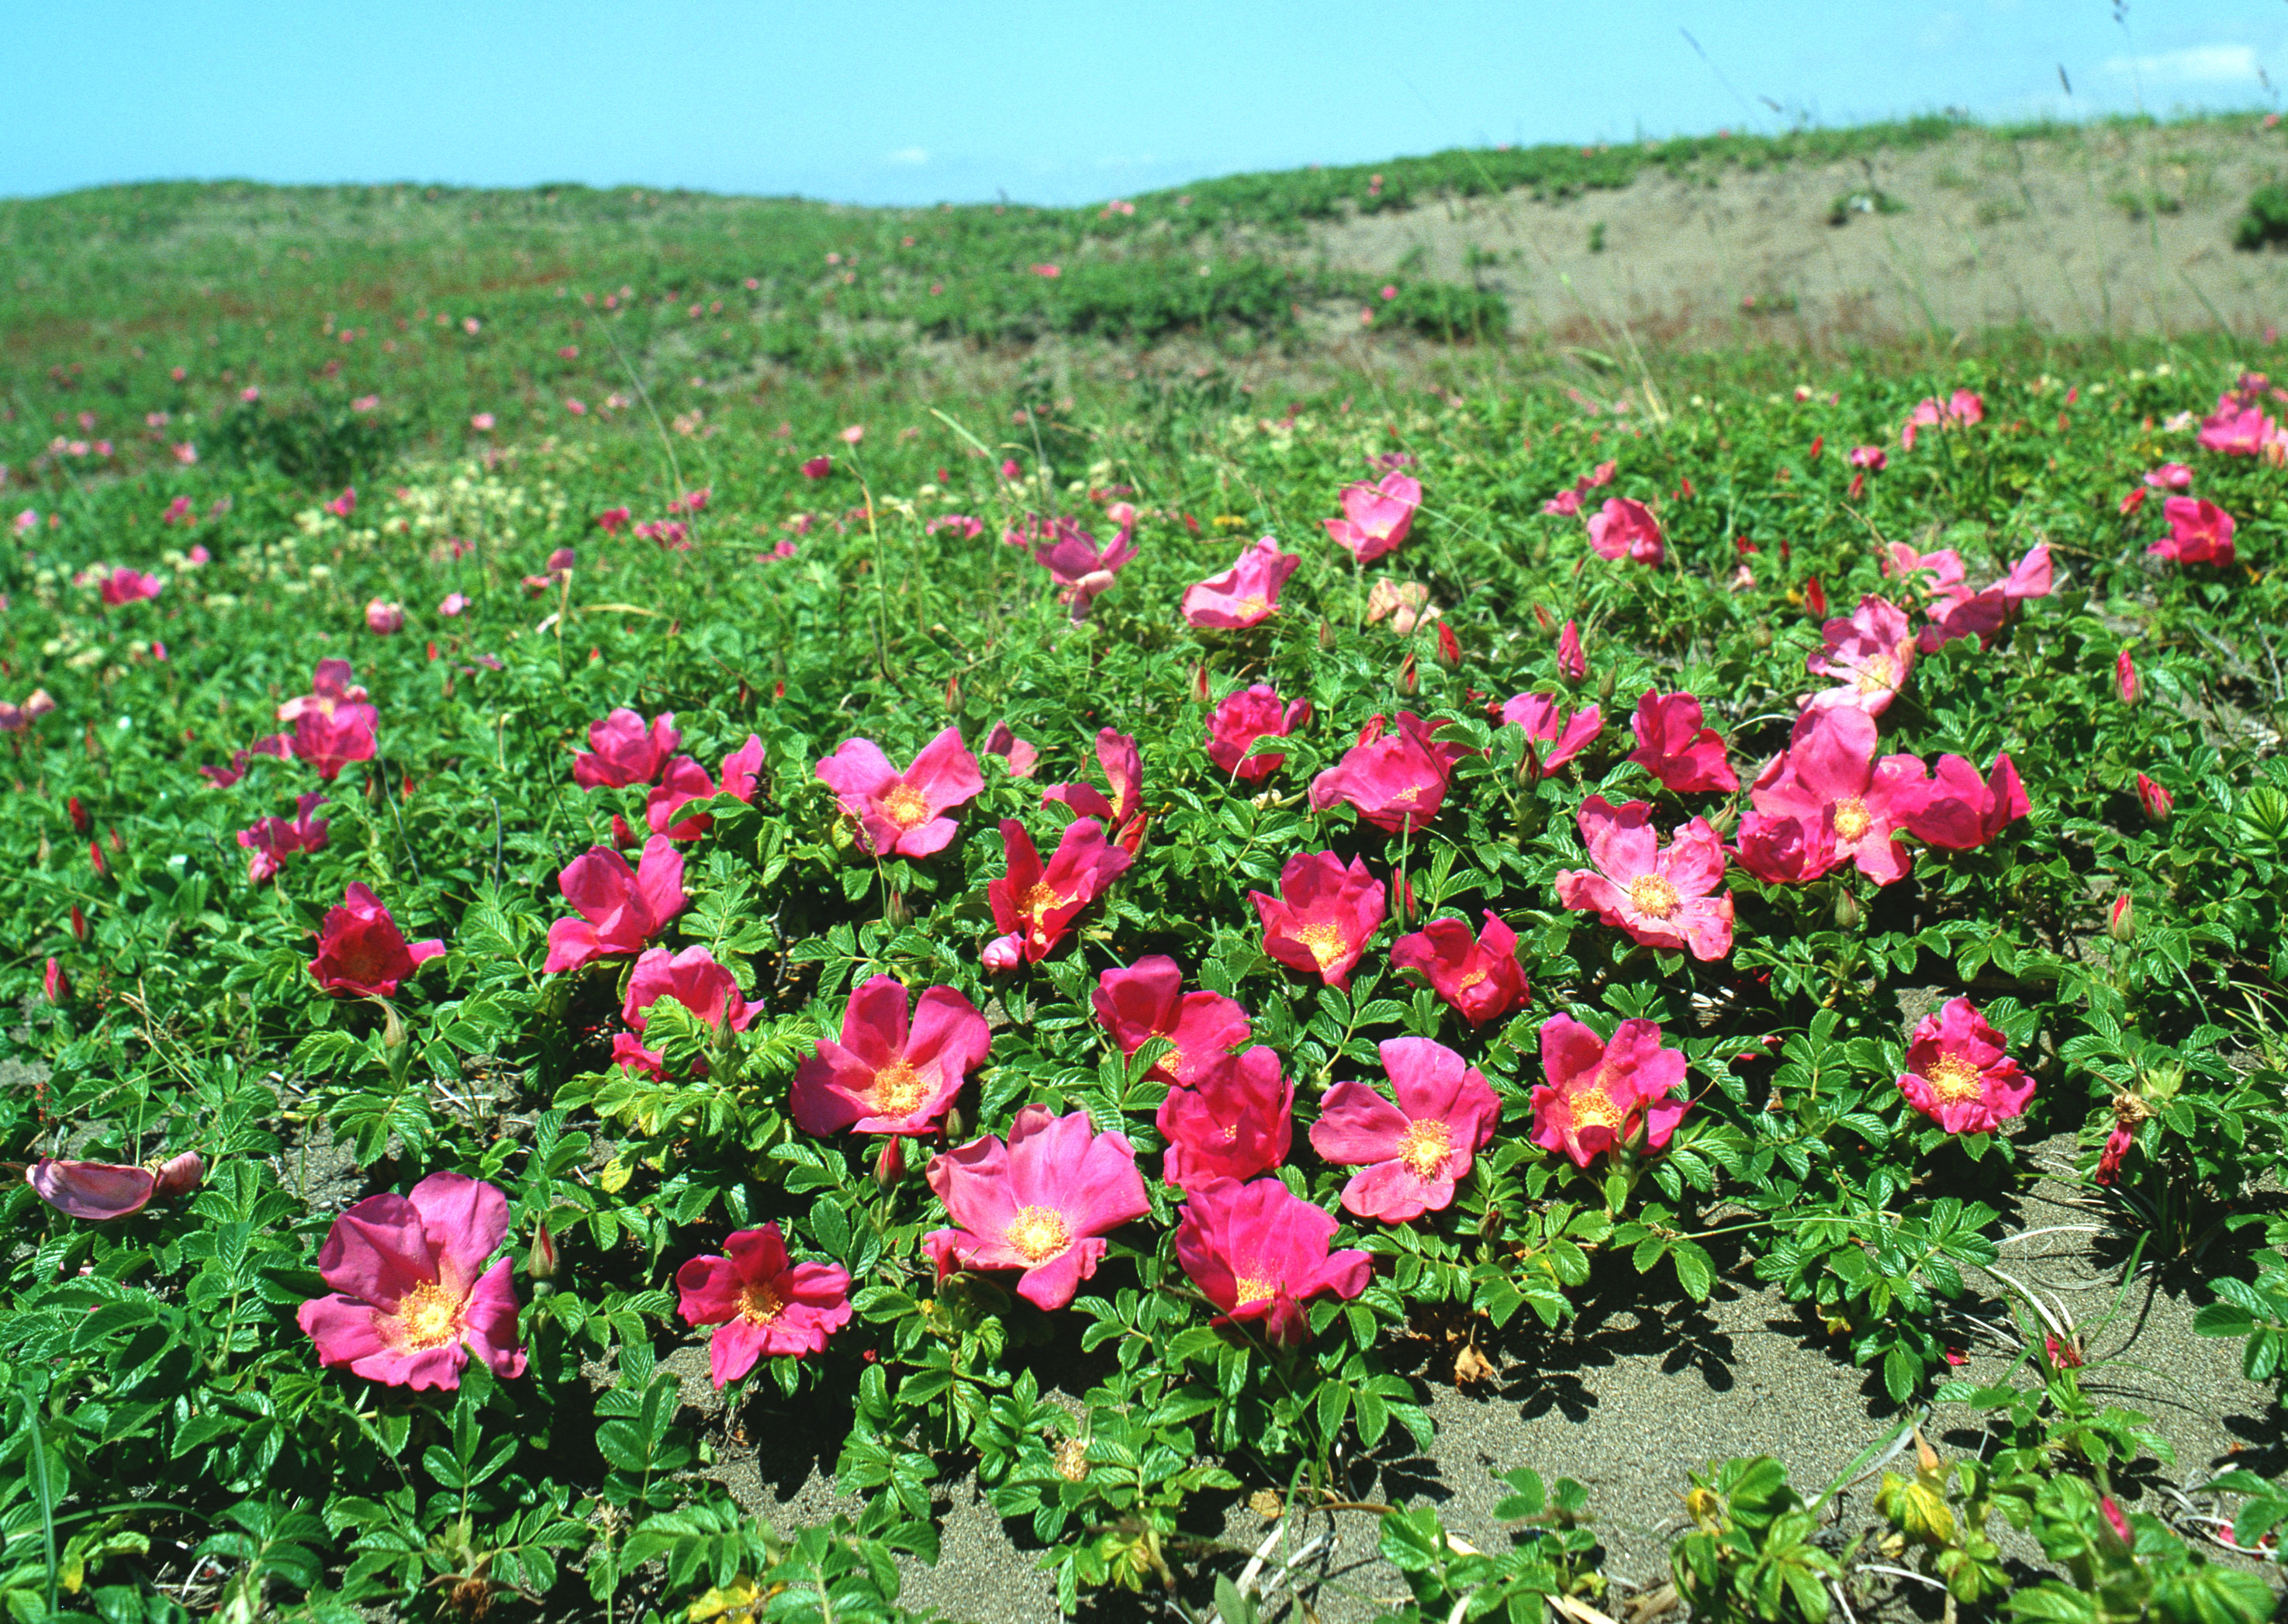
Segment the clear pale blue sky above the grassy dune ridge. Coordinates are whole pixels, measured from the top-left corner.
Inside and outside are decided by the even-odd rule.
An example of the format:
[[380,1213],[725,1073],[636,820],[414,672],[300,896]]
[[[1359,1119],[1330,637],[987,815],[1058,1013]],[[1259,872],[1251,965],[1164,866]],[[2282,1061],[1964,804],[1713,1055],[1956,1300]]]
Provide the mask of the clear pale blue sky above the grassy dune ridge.
[[2288,85],[2281,0],[2128,0],[2119,21],[2114,0],[18,0],[0,18],[0,194],[18,197],[245,176],[1082,204],[1457,144],[2270,108],[2258,75]]

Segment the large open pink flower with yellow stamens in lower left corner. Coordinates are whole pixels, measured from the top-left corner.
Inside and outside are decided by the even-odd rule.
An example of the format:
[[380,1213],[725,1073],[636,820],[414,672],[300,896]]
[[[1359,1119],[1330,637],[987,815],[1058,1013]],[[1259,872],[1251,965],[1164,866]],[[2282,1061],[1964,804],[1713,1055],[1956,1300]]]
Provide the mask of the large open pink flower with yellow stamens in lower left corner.
[[320,1366],[384,1386],[458,1388],[476,1354],[524,1375],[513,1265],[485,1258],[508,1237],[508,1196],[462,1173],[430,1173],[403,1196],[366,1196],[318,1249],[332,1297],[295,1313]]

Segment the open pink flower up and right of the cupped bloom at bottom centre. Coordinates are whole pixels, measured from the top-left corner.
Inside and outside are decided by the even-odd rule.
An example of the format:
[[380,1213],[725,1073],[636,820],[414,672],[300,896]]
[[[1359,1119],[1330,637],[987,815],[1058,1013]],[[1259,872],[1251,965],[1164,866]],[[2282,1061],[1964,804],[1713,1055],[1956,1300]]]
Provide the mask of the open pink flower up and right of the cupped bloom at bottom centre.
[[1361,1169],[1343,1185],[1345,1212],[1405,1224],[1453,1203],[1471,1155],[1494,1137],[1501,1100],[1444,1043],[1384,1038],[1380,1052],[1398,1105],[1364,1082],[1338,1082],[1320,1100],[1311,1148]]

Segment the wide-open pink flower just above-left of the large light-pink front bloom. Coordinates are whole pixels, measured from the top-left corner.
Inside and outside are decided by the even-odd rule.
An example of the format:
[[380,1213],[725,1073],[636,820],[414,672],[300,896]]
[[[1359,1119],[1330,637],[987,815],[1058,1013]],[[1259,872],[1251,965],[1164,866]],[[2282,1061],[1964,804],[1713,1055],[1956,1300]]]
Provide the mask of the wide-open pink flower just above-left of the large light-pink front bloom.
[[842,1006],[842,1041],[819,1038],[794,1073],[794,1125],[805,1135],[927,1135],[984,1066],[993,1034],[959,990],[934,986],[906,1022],[906,986],[872,977]]

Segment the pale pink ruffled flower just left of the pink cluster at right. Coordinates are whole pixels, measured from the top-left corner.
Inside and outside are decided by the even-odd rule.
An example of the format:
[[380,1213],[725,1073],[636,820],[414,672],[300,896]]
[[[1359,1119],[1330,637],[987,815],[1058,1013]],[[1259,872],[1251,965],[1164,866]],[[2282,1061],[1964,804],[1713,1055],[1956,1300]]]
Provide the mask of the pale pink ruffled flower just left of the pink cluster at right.
[[1652,805],[1590,796],[1581,839],[1592,869],[1558,869],[1558,901],[1595,913],[1647,947],[1684,947],[1693,958],[1732,952],[1732,892],[1723,890],[1723,839],[1707,819],[1684,823],[1668,846],[1652,833]]

